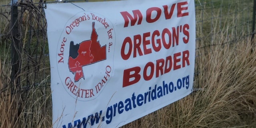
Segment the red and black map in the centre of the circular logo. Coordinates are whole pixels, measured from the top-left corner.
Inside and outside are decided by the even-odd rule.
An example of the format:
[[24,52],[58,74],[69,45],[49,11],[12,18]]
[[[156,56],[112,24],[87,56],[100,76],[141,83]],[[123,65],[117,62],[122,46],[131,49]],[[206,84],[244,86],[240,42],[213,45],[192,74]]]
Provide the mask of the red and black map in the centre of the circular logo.
[[100,46],[94,26],[95,22],[92,23],[91,40],[76,45],[73,41],[70,42],[68,68],[75,74],[75,82],[84,78],[83,66],[106,60],[106,45]]

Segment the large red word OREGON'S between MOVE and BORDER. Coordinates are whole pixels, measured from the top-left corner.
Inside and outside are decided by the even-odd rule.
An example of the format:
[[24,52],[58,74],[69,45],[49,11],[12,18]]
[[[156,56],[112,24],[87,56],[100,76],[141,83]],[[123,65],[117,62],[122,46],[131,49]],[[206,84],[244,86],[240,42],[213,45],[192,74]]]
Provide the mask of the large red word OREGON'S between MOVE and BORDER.
[[[152,35],[150,32],[146,32],[133,36],[133,39],[130,37],[126,37],[122,44],[121,56],[124,60],[128,60],[132,52],[133,58],[135,58],[137,57],[137,55],[143,56],[152,53],[152,49],[155,52],[159,52],[162,48],[162,45],[165,49],[170,49],[171,46],[178,46],[180,36],[179,33],[181,33],[182,31],[185,35],[183,37],[183,41],[186,44],[189,39],[189,32],[187,29],[189,29],[189,26],[188,24],[185,24],[183,28],[182,25],[172,27],[172,30],[164,28],[162,30],[162,33],[160,33],[159,30],[155,30],[154,32],[152,32]],[[150,47],[150,44],[152,45],[152,48]]]

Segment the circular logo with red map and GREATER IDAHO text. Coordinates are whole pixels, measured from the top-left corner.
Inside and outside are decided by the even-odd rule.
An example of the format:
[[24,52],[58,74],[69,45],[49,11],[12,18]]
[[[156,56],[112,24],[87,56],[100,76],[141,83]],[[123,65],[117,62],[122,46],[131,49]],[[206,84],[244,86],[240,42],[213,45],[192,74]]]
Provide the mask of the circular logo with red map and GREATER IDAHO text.
[[115,32],[110,20],[80,12],[65,25],[57,47],[57,68],[66,92],[92,100],[104,90],[114,68]]

